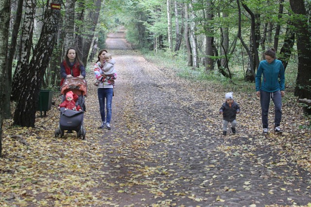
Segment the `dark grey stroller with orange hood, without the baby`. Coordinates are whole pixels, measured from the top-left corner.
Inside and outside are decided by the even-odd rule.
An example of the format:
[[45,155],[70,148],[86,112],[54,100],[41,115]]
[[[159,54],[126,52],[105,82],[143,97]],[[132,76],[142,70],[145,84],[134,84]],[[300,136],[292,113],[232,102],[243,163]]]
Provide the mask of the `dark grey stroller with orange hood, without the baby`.
[[82,108],[82,111],[66,110],[60,108],[60,119],[58,128],[55,129],[55,137],[64,136],[65,130],[73,130],[77,132],[77,138],[86,138],[86,130],[83,127],[83,116],[86,111],[85,97],[87,94],[87,84],[85,79],[67,78],[61,86],[62,102],[66,99],[67,92],[72,91],[73,100],[76,106]]

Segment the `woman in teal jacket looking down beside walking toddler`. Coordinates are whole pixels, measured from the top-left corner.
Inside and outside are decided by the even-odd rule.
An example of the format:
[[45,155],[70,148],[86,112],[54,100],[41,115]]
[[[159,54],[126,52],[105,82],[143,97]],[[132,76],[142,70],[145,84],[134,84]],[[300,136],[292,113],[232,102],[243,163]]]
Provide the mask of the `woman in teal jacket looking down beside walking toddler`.
[[282,118],[282,97],[285,94],[285,70],[282,62],[276,60],[274,48],[267,50],[264,55],[266,60],[259,63],[255,79],[256,95],[260,97],[262,133],[268,133],[270,99],[273,100],[275,107],[274,131],[281,133],[280,122]]

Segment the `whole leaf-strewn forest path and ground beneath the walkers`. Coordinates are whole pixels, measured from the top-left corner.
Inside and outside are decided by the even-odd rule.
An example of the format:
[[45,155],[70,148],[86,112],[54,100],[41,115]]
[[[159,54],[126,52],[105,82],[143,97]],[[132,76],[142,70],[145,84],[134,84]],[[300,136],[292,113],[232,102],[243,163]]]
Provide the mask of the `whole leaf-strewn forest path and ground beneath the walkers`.
[[[55,137],[60,112],[34,128],[3,125],[0,206],[263,207],[311,202],[311,133],[294,98],[282,135],[261,134],[259,99],[235,92],[237,131],[222,135],[221,84],[178,78],[108,35],[118,78],[111,130],[101,124],[95,78],[86,75],[86,139]],[[173,60],[172,60],[173,61]],[[241,90],[240,90],[241,91]],[[287,92],[289,94],[289,92]],[[59,94],[54,101],[61,102]],[[273,106],[273,105],[272,105]],[[273,110],[269,116],[273,125]]]

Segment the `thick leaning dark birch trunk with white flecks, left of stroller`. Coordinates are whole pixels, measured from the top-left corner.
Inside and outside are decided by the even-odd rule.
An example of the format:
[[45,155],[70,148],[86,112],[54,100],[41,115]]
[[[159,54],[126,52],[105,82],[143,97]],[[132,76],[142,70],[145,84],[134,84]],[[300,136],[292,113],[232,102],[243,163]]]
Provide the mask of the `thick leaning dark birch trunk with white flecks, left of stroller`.
[[[53,3],[60,3],[60,0],[53,0]],[[14,125],[35,127],[35,112],[38,106],[42,79],[52,56],[60,18],[60,10],[49,7],[50,1],[47,2],[45,9],[40,38],[35,46],[30,63],[25,67],[25,76],[17,77],[18,82],[22,83],[23,87],[17,99]]]

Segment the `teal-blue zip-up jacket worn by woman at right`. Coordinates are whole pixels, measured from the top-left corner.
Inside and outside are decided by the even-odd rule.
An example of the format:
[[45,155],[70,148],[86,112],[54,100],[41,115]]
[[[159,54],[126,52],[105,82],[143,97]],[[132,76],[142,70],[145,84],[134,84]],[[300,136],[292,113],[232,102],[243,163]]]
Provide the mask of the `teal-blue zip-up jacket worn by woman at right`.
[[[262,81],[261,76],[263,76]],[[262,90],[269,93],[284,91],[285,71],[282,62],[276,59],[271,64],[267,61],[260,61],[255,80],[256,91]]]

